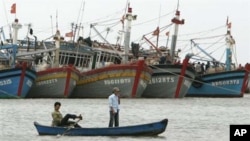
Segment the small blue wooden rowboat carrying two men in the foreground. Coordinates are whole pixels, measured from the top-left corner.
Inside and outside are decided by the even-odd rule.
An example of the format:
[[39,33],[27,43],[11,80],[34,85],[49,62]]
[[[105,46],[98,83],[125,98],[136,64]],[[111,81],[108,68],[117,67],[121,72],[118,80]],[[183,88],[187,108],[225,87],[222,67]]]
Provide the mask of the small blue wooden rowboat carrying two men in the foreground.
[[168,119],[158,122],[122,126],[122,127],[102,127],[102,128],[70,128],[52,127],[34,122],[39,135],[65,135],[65,136],[155,136],[166,130]]

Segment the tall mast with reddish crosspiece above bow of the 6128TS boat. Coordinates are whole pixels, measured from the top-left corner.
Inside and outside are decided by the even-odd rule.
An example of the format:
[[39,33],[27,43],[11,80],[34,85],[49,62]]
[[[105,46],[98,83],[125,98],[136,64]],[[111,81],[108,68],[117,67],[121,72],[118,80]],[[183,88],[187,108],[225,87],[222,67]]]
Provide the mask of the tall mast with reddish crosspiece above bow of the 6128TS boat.
[[180,11],[178,10],[178,6],[177,6],[177,10],[175,12],[175,17],[172,19],[172,23],[175,24],[175,28],[174,28],[174,34],[172,35],[170,57],[171,57],[171,62],[174,63],[174,61],[175,61],[175,47],[176,47],[176,42],[177,42],[179,25],[184,24],[184,19],[180,20]]

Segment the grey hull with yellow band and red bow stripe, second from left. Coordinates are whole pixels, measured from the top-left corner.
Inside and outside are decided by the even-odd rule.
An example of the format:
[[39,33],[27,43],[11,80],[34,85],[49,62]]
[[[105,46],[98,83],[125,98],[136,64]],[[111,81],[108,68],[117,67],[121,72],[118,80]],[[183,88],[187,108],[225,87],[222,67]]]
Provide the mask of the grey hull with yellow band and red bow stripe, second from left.
[[51,68],[38,72],[27,98],[67,98],[72,94],[80,73],[72,67]]

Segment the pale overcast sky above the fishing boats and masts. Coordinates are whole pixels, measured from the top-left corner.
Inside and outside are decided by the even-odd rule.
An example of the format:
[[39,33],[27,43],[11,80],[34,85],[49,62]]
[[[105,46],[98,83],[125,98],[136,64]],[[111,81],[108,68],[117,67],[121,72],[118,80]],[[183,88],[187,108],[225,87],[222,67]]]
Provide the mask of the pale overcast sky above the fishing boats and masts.
[[[25,25],[31,23],[34,34],[42,40],[55,32],[56,25],[61,34],[65,35],[71,30],[71,23],[74,22],[81,23],[84,27],[83,36],[87,37],[90,35],[89,24],[98,23],[96,28],[103,31],[119,21],[125,12],[126,2],[127,0],[1,0],[0,26],[4,27],[7,36],[7,25],[16,16],[23,24],[19,32],[20,38],[27,33]],[[16,3],[16,14],[10,14],[13,3]],[[130,7],[133,8],[133,14],[137,15],[137,19],[132,23],[131,41],[138,42],[144,34],[153,31],[157,26],[171,23],[177,0],[130,0]],[[238,62],[250,62],[249,0],[180,0],[179,10],[181,19],[185,19],[185,24],[179,28],[179,35],[225,25],[228,16],[232,22],[232,35],[236,40]],[[107,21],[104,22],[105,20]],[[122,25],[119,23],[110,28],[107,39],[115,42]],[[106,37],[106,33],[102,33]],[[91,31],[91,35],[94,34],[95,32]]]

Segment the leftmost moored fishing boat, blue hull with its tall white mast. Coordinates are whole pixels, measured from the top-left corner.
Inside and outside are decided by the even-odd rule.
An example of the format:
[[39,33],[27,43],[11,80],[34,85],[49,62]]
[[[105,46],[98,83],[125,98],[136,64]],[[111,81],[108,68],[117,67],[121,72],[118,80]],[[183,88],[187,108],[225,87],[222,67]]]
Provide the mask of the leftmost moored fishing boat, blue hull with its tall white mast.
[[[24,98],[30,91],[37,77],[27,62],[16,61],[18,55],[17,33],[21,25],[18,20],[12,23],[13,42],[5,42],[5,36],[1,40],[0,51],[0,98]],[[2,30],[2,35],[4,35]]]

